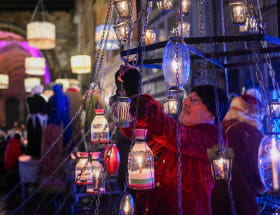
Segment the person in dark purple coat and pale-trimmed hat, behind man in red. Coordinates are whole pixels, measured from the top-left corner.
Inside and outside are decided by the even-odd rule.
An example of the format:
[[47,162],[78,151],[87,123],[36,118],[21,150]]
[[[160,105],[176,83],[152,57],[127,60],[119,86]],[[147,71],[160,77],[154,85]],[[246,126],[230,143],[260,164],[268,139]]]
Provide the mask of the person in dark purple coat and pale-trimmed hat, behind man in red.
[[[233,98],[222,123],[228,145],[235,154],[229,190],[233,200],[230,201],[227,184],[224,181],[217,182],[213,190],[213,215],[261,214],[256,197],[264,191],[258,171],[264,113],[261,102],[254,96]],[[231,207],[234,211],[230,210]]]

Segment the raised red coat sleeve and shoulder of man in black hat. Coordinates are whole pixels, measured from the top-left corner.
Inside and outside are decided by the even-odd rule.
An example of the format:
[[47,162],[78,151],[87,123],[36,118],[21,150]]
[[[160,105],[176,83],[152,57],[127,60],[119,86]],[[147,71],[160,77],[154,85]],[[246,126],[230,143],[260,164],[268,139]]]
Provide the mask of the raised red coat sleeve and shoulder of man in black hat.
[[[213,142],[217,139],[215,126],[180,125],[175,119],[165,114],[162,105],[149,95],[142,95],[138,101],[134,99],[130,110],[132,115],[136,116],[136,128],[148,129],[148,136],[151,135],[158,144],[176,153],[179,139],[183,155],[208,160],[206,150],[214,145]],[[179,137],[177,137],[177,128],[180,129]]]

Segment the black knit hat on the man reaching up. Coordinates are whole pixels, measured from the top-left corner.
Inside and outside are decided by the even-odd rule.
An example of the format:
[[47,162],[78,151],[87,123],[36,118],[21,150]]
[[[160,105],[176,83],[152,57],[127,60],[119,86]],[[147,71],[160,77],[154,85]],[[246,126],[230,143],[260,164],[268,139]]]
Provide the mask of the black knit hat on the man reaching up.
[[217,118],[218,114],[216,112],[215,87],[212,85],[198,85],[191,90],[191,92],[195,92],[201,98],[203,104],[215,116],[215,124],[217,124],[218,120],[219,122],[223,120],[229,108],[225,92],[221,88],[217,87],[216,89],[219,101],[219,119]]

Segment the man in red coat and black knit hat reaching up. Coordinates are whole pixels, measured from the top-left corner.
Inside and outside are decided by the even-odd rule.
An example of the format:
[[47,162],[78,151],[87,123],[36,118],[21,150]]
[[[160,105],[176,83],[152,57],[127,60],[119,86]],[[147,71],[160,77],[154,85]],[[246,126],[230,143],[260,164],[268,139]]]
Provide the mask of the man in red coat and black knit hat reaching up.
[[[207,148],[218,143],[215,124],[223,119],[228,109],[225,93],[216,88],[220,113],[218,119],[215,87],[194,87],[183,102],[179,124],[165,114],[162,105],[151,96],[139,95],[141,78],[136,69],[128,69],[121,79],[127,96],[133,98],[130,111],[136,117],[135,128],[148,129],[148,145],[155,156],[156,187],[137,191],[135,214],[178,214],[176,131],[179,129],[182,154],[182,214],[210,215],[210,197],[214,181]],[[133,128],[132,123],[131,127],[123,129],[123,132],[129,134]]]

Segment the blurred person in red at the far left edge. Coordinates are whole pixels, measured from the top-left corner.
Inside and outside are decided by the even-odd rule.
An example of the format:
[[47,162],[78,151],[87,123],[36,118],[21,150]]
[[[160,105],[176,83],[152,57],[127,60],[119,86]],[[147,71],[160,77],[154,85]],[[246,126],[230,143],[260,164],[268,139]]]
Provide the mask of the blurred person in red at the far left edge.
[[9,188],[12,188],[19,181],[18,158],[21,154],[21,135],[16,133],[9,140],[4,153],[4,168],[7,171]]

